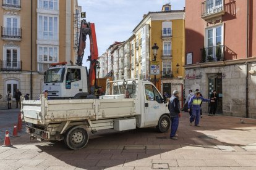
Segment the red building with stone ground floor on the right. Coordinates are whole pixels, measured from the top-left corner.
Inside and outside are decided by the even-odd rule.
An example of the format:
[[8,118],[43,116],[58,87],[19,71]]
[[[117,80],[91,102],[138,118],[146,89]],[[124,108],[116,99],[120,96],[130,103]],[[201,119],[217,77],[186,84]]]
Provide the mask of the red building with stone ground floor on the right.
[[250,0],[186,1],[186,94],[208,98],[216,89],[223,115],[256,118],[255,8]]

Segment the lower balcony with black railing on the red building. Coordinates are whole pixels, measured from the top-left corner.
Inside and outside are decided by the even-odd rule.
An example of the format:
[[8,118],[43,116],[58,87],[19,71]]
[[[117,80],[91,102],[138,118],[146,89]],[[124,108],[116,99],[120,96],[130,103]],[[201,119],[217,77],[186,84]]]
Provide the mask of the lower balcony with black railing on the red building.
[[224,61],[225,49],[223,45],[200,49],[200,63]]

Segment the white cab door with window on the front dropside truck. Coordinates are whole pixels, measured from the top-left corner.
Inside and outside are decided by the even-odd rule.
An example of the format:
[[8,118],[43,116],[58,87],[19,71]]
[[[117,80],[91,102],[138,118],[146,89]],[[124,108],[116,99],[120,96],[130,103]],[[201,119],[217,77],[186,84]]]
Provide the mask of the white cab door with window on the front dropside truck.
[[164,113],[163,97],[152,84],[143,84],[145,93],[144,96],[144,111],[145,111],[145,126],[158,123],[160,115]]

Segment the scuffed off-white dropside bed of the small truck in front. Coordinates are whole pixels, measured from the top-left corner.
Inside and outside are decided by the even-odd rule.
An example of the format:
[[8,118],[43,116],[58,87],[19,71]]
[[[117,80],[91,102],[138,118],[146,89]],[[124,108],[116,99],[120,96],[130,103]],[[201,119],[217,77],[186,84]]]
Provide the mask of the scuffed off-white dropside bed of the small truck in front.
[[[139,115],[135,112],[136,99],[22,99],[22,117],[33,124],[48,124],[82,119],[98,120]],[[117,109],[118,108],[118,109]]]

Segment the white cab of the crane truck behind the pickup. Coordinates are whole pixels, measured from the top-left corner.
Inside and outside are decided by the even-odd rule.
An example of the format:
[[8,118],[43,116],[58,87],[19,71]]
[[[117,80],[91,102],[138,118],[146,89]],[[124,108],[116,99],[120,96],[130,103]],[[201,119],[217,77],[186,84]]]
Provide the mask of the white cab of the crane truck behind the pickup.
[[56,65],[45,72],[43,90],[51,99],[82,99],[88,95],[87,67]]

